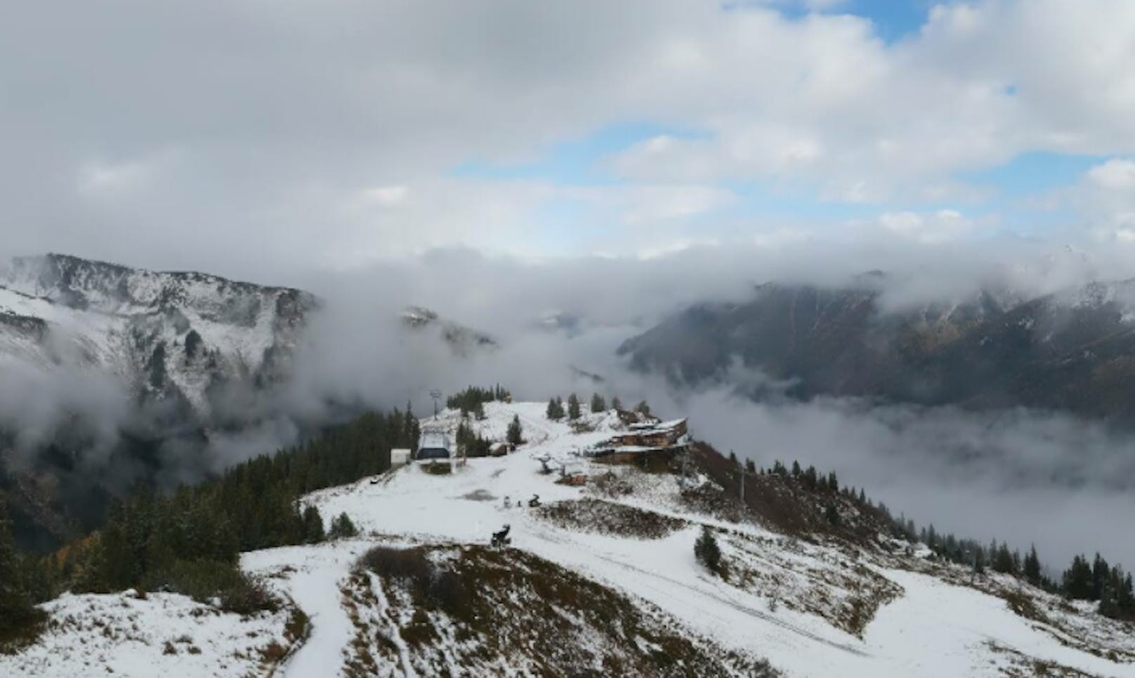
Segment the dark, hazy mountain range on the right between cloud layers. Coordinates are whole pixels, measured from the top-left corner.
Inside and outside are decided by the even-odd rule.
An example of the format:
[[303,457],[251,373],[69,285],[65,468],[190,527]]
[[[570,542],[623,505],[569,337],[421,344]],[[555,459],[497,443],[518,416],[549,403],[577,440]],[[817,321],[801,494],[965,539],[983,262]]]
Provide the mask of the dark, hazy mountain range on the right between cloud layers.
[[1020,405],[1135,424],[1135,281],[896,309],[880,278],[762,285],[743,303],[690,307],[619,352],[679,386],[735,385],[740,366],[801,399]]

